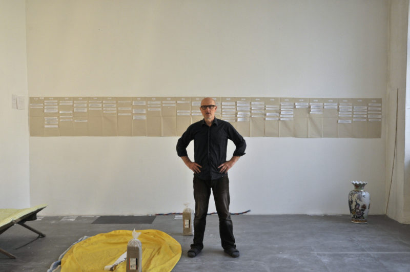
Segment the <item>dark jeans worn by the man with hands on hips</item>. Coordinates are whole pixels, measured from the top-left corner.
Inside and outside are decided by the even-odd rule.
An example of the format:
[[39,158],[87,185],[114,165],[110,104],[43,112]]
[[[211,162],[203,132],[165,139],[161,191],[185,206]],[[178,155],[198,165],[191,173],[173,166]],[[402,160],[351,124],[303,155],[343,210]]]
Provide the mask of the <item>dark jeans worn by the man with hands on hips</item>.
[[229,213],[229,179],[224,176],[216,180],[201,180],[194,176],[194,243],[191,247],[203,248],[203,234],[207,224],[207,213],[211,189],[214,195],[216,212],[219,217],[219,235],[223,249],[236,248],[231,214]]

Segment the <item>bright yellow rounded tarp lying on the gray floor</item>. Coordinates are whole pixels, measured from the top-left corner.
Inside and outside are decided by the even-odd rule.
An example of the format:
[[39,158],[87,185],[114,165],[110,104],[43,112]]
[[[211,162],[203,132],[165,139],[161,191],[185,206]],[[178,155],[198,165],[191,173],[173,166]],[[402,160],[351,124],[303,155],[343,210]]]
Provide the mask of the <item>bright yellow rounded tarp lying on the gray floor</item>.
[[[181,258],[181,245],[168,234],[145,229],[138,239],[142,243],[142,271],[171,271]],[[113,231],[87,238],[70,248],[61,260],[61,272],[104,271],[126,252],[131,231]],[[125,272],[126,262],[114,271]]]

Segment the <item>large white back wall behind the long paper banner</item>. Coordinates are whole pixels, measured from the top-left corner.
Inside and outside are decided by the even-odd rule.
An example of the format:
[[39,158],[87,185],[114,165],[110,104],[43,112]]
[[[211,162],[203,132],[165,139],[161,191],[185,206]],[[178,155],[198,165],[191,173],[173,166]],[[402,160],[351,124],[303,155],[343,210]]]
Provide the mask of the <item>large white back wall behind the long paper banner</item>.
[[[29,1],[29,96],[378,97],[384,107],[387,25],[382,0]],[[371,214],[384,213],[384,132],[246,140],[231,212],[348,214],[350,181],[366,180]],[[176,141],[30,137],[31,203],[48,203],[47,215],[179,212],[193,202],[192,173]]]

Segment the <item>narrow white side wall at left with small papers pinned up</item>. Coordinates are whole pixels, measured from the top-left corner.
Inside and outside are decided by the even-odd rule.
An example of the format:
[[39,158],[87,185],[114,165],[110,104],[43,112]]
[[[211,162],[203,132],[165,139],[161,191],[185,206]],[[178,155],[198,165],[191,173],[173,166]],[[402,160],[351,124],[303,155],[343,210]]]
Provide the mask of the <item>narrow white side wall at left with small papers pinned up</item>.
[[[0,208],[30,205],[25,1],[0,1]],[[12,109],[12,95],[25,98]]]

